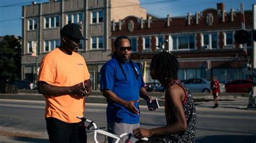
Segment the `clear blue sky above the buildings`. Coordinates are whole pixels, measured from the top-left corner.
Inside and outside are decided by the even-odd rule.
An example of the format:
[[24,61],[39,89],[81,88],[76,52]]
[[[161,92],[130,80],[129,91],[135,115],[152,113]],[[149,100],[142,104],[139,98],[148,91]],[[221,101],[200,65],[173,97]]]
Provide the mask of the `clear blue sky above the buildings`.
[[[39,2],[48,2],[48,0],[34,0]],[[122,0],[120,0],[122,1]],[[3,35],[21,35],[22,26],[22,5],[31,4],[31,0],[0,0],[0,36]],[[171,17],[186,16],[188,12],[192,15],[197,11],[203,11],[207,8],[216,8],[216,4],[224,2],[225,10],[240,8],[240,3],[244,3],[245,10],[251,10],[252,4],[256,0],[140,0],[140,6],[147,9],[153,16]]]

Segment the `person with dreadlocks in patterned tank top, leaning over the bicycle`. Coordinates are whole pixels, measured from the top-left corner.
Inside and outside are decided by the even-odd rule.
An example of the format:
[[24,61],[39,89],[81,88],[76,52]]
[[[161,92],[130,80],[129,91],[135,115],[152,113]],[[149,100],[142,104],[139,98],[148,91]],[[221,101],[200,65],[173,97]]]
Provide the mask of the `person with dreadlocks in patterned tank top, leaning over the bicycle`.
[[153,56],[150,75],[165,87],[166,125],[152,129],[136,128],[138,138],[148,142],[195,142],[196,107],[190,91],[178,80],[178,60],[169,52]]

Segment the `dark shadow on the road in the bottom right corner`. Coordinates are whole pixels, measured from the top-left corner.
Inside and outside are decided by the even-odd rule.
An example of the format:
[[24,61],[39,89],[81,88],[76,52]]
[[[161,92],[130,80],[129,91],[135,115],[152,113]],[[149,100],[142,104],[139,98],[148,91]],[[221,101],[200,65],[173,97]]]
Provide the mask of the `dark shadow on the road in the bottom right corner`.
[[209,135],[206,137],[200,137],[196,139],[196,142],[207,142],[207,143],[215,143],[215,142],[232,142],[232,143],[240,143],[240,142],[253,142],[256,141],[255,135]]

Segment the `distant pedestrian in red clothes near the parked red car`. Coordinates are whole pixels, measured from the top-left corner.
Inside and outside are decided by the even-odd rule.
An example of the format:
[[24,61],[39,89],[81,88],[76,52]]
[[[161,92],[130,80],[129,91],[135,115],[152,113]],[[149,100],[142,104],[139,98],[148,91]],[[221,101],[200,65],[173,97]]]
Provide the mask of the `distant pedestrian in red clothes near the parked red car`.
[[215,75],[212,76],[211,94],[212,94],[213,100],[214,100],[213,108],[217,108],[219,106],[219,104],[218,104],[218,95],[220,94],[220,84],[219,84],[219,81],[217,80]]

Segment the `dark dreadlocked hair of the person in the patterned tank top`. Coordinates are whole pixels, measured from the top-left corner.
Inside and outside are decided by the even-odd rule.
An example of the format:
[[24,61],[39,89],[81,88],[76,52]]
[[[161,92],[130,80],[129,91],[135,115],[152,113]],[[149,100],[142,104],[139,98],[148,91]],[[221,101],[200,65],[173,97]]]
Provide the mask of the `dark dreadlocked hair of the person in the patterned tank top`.
[[169,52],[161,52],[154,55],[151,61],[151,68],[156,71],[160,81],[169,82],[178,78],[179,62]]

